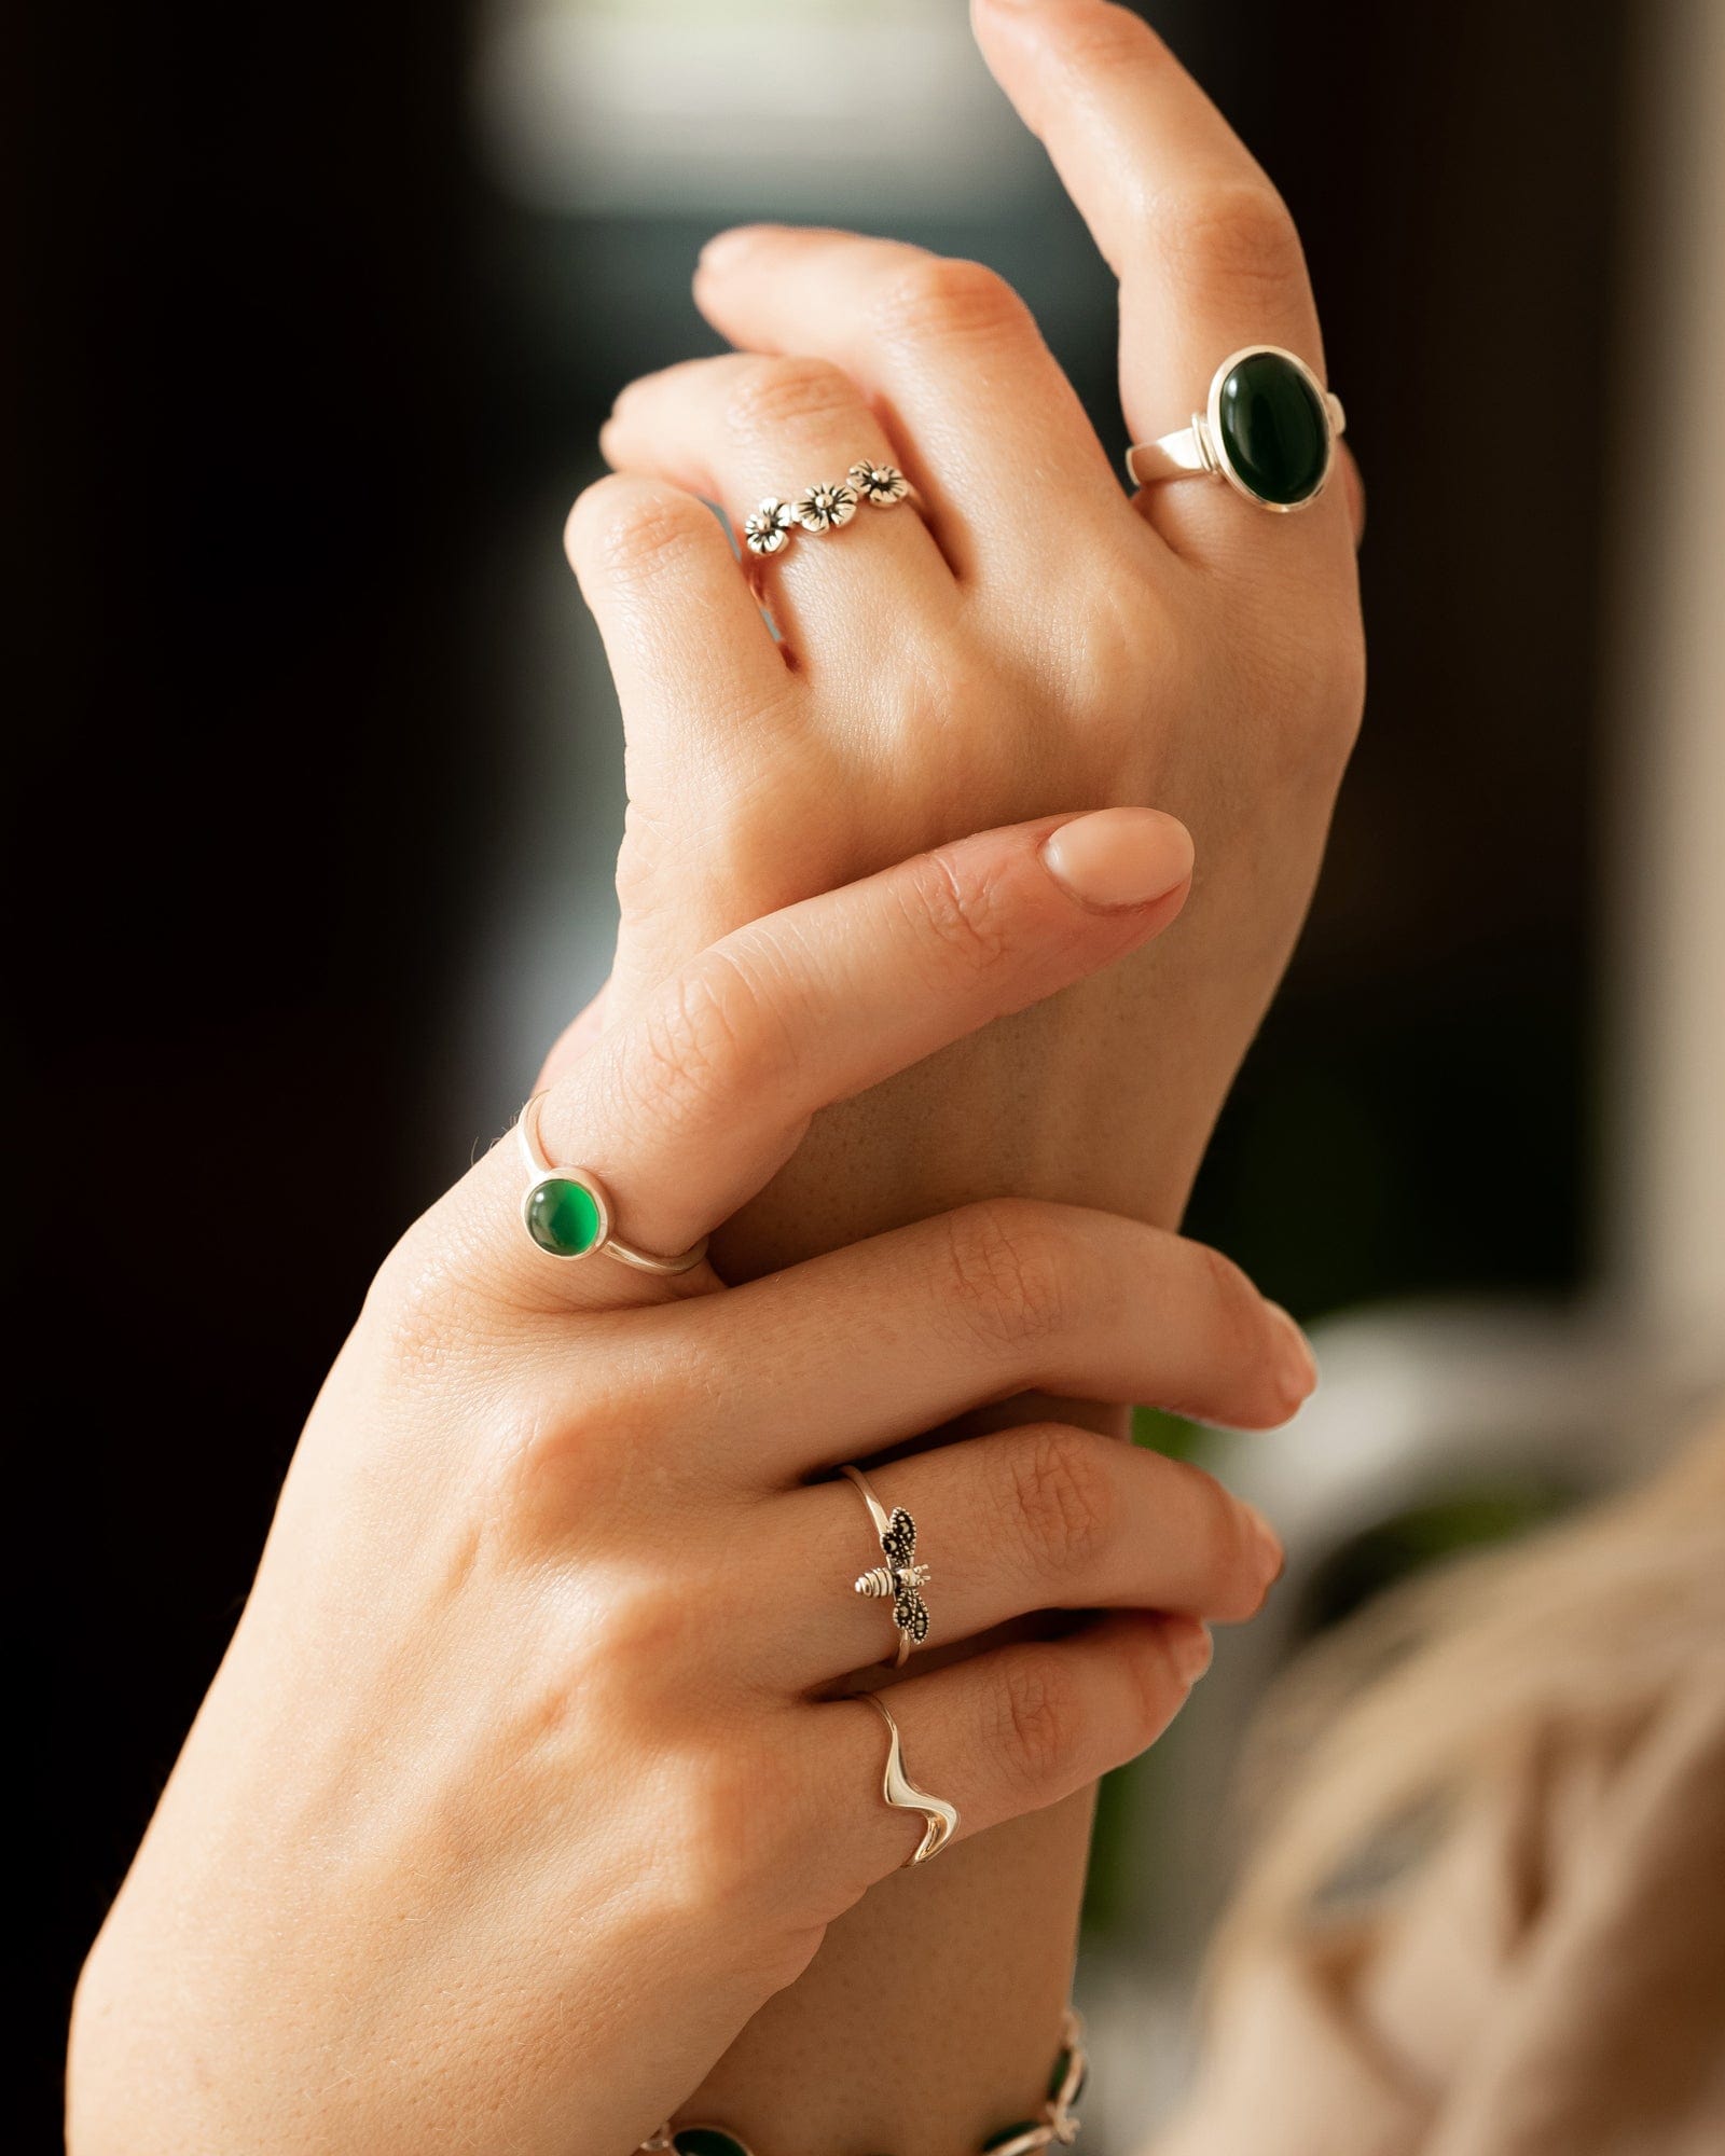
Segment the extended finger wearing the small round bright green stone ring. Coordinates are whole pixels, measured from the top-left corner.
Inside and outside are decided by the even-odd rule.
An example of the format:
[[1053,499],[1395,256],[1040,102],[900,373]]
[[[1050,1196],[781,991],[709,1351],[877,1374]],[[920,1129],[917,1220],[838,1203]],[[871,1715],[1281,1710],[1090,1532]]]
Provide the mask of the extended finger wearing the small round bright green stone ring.
[[[546,1158],[593,1171],[617,1233],[671,1255],[729,1218],[811,1117],[1138,949],[1190,837],[1151,808],[1041,817],[768,914],[701,953],[546,1095]],[[621,1304],[625,1268],[537,1250],[513,1136],[427,1216],[526,1307]],[[638,1283],[634,1283],[638,1285]]]

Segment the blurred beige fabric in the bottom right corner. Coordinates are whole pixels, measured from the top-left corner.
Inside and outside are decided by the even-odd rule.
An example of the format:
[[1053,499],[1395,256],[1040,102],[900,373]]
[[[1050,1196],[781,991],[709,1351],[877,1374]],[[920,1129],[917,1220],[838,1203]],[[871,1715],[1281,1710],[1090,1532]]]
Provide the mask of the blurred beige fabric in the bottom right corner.
[[1725,2156],[1725,1641],[1574,1697],[1363,1917],[1246,1953],[1154,2156]]

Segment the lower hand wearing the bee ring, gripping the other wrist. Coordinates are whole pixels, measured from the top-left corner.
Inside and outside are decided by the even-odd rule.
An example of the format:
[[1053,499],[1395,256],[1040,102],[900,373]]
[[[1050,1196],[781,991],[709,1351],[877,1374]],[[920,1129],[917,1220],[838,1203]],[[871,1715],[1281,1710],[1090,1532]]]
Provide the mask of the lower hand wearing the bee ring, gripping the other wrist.
[[[580,1056],[546,1151],[684,1248],[815,1110],[1143,946],[1188,865],[1115,811],[789,908]],[[524,1188],[505,1141],[408,1233],[317,1401],[84,1973],[75,2156],[632,2150],[919,1839],[832,1697],[893,1639],[832,1470],[1024,1386],[1257,1425],[1309,1384],[1233,1268],[1130,1220],[983,1205],[720,1291],[546,1257]],[[1205,1475],[1082,1429],[875,1479],[932,1645],[1110,1611],[891,1684],[966,1835],[1151,1742],[1276,1567]]]

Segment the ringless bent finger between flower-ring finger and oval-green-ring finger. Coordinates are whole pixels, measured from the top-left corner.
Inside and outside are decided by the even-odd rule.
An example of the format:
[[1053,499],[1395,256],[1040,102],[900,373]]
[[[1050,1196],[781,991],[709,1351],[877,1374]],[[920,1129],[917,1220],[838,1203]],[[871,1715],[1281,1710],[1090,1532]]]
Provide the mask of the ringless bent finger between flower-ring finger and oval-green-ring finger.
[[912,453],[942,552],[1044,561],[1048,517],[1123,511],[1119,481],[1018,293],[981,263],[897,239],[740,226],[701,257],[694,298],[750,351],[843,367]]

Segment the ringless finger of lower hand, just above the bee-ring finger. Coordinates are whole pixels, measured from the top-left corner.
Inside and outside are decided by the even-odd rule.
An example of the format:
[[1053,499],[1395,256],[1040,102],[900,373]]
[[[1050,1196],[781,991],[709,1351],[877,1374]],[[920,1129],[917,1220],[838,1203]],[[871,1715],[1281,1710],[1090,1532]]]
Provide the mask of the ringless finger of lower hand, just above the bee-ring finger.
[[[714,1371],[737,1326],[763,1345],[720,1414]],[[1294,1319],[1220,1253],[1035,1199],[962,1205],[750,1281],[722,1309],[679,1313],[675,1348],[679,1427],[727,1479],[744,1432],[742,1464],[768,1488],[1029,1391],[1264,1429],[1315,1384]]]

